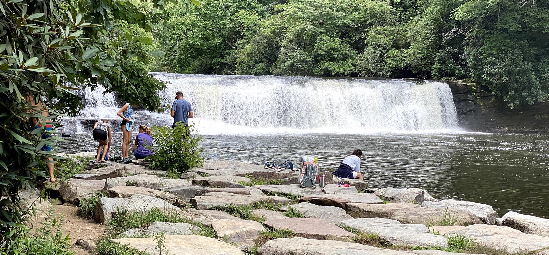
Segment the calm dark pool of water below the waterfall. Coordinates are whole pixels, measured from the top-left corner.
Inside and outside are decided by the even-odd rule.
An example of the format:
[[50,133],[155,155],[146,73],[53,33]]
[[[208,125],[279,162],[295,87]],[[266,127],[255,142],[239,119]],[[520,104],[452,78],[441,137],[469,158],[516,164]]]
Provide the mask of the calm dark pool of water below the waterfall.
[[[121,134],[114,134],[120,154]],[[135,134],[134,134],[135,136]],[[61,152],[94,150],[91,134],[60,144]],[[360,148],[362,172],[372,188],[423,188],[435,198],[491,205],[549,218],[549,138],[546,134],[278,134],[205,135],[204,157],[264,164],[277,158],[319,158],[322,170],[335,170]]]

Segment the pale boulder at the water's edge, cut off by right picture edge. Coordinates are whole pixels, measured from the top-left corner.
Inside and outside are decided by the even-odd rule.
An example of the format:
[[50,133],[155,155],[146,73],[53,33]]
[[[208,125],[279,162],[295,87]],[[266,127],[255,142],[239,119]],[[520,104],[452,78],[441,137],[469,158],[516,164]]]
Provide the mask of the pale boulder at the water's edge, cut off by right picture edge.
[[526,234],[549,237],[549,219],[508,212],[501,217],[501,224]]

